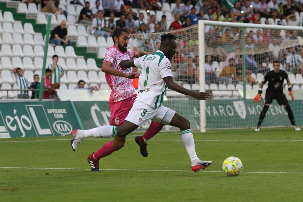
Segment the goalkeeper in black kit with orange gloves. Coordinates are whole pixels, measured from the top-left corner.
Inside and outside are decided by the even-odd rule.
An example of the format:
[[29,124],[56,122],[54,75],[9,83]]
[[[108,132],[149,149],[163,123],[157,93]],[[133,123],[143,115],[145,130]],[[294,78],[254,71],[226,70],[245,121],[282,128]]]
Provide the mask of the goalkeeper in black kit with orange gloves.
[[286,79],[289,95],[291,95],[292,100],[294,99],[294,95],[292,93],[291,84],[288,75],[285,71],[280,70],[280,62],[277,60],[273,62],[273,68],[274,70],[267,72],[267,74],[265,75],[264,79],[260,83],[258,94],[254,98],[255,102],[259,102],[260,98],[262,99],[261,96],[262,87],[263,84],[265,84],[268,81],[268,88],[266,89],[266,93],[265,93],[264,107],[263,110],[261,111],[258,125],[255,128],[255,131],[260,131],[261,123],[265,117],[269,105],[272,103],[274,99],[276,99],[278,104],[283,105],[283,107],[286,109],[288,113],[288,118],[291,121],[291,125],[292,125],[291,127],[295,128],[296,131],[301,131],[301,128],[299,128],[295,124],[294,114],[291,111],[290,105],[288,103],[285,94],[283,93],[283,82],[284,79]]

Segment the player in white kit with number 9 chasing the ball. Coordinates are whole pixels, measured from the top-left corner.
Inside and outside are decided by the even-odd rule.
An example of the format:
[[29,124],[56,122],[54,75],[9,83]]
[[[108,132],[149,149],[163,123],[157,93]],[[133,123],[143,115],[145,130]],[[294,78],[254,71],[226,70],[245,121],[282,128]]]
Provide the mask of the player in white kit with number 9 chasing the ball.
[[125,137],[139,126],[152,120],[180,128],[182,141],[191,160],[192,171],[198,172],[208,167],[212,162],[200,160],[195,152],[195,142],[189,121],[161,104],[166,88],[198,100],[206,100],[210,96],[209,93],[194,92],[174,82],[170,60],[175,55],[176,48],[175,35],[167,33],[161,36],[160,48],[155,53],[142,56],[134,61],[121,61],[120,67],[123,69],[133,66],[142,68],[139,83],[141,88],[143,84],[144,90],[138,95],[121,126],[102,126],[90,130],[78,130],[77,134],[73,136],[73,146],[77,147],[81,140],[86,137]]

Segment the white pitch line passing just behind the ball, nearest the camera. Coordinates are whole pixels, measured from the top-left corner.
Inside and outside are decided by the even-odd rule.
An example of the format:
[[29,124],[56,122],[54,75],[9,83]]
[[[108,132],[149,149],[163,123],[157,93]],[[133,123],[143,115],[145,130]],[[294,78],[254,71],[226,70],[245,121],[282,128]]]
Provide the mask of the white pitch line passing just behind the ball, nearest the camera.
[[[88,168],[35,168],[35,167],[0,167],[10,169],[50,169],[50,170],[91,170]],[[192,171],[178,171],[178,170],[139,170],[139,169],[101,169],[104,171],[155,171],[155,172],[192,172]],[[223,171],[200,171],[207,173],[221,173]],[[295,172],[242,172],[242,173],[258,173],[258,174],[303,174]]]

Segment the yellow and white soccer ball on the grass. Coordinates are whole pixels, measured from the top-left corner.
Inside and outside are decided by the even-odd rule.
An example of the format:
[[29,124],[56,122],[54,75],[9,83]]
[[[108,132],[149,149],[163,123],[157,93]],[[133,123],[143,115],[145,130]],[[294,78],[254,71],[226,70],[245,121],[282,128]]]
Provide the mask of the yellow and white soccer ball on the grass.
[[240,159],[231,156],[223,161],[222,169],[227,176],[237,176],[241,173],[243,165]]

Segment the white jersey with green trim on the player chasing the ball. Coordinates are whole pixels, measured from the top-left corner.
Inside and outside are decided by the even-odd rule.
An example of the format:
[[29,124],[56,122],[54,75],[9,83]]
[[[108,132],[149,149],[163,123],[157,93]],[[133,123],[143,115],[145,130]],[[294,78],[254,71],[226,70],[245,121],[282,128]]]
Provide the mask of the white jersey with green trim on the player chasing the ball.
[[139,77],[139,95],[136,100],[155,109],[159,108],[167,88],[163,78],[172,77],[170,61],[162,51],[157,51],[137,58],[134,64],[142,69]]

